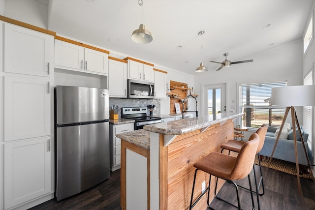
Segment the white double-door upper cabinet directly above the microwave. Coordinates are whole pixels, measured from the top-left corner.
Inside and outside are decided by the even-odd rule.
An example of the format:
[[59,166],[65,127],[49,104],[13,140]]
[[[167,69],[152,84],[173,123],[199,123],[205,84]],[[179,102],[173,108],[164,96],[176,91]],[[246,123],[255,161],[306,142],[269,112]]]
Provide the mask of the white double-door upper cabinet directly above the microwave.
[[134,60],[128,60],[128,79],[154,82],[153,66]]

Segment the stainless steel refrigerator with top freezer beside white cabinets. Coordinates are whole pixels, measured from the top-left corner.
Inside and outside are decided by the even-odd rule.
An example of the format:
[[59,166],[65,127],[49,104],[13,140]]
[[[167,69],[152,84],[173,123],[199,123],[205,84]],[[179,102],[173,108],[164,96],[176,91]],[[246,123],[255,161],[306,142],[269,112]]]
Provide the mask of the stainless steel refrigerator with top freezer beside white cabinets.
[[55,122],[60,201],[109,178],[108,90],[56,86]]

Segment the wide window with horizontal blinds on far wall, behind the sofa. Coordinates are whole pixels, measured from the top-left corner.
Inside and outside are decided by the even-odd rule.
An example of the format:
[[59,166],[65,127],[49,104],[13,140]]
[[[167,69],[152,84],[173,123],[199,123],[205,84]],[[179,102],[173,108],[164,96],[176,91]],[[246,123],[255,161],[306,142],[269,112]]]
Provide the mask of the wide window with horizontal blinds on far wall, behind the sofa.
[[284,118],[283,106],[272,106],[271,89],[286,87],[286,82],[240,85],[240,108],[244,113],[242,125],[258,128],[262,124],[280,126]]

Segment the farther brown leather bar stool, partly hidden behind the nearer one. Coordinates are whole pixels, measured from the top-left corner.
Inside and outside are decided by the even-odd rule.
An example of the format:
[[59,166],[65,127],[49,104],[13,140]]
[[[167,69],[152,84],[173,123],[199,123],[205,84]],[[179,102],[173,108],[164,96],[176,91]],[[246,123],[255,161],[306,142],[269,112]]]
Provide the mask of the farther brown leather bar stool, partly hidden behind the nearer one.
[[[260,163],[260,158],[259,158],[259,152],[262,149],[262,147],[264,146],[264,142],[265,142],[265,136],[266,136],[266,132],[267,132],[267,125],[263,124],[260,128],[257,129],[256,133],[259,136],[259,144],[257,147],[257,157],[258,157],[258,162],[259,162],[259,169],[260,169],[260,180],[257,186],[257,181],[256,181],[256,173],[255,173],[255,167],[253,165],[253,171],[254,171],[254,179],[255,179],[255,184],[256,184],[256,193],[257,194],[257,202],[258,202],[258,209],[260,209],[260,205],[259,205],[259,197],[258,195],[262,196],[263,194],[265,194],[265,187],[264,187],[264,182],[263,182],[263,177],[262,177],[262,171],[261,171],[261,163]],[[244,141],[239,141],[239,140],[228,140],[227,142],[225,142],[224,144],[221,145],[221,152],[223,150],[229,150],[228,154],[230,154],[230,151],[234,151],[234,152],[239,152],[242,148],[242,146],[244,145]],[[260,186],[262,186],[262,193],[259,193],[259,189]],[[240,186],[242,187],[242,186]],[[245,187],[242,187],[245,188]],[[249,190],[248,188],[245,188],[247,190]]]

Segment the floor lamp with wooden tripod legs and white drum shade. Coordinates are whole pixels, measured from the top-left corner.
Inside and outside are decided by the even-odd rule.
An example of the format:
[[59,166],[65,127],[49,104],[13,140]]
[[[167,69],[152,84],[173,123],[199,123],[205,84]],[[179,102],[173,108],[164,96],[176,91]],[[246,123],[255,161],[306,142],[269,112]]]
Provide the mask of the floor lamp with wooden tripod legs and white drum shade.
[[[272,159],[272,156],[276,150],[278,140],[281,134],[281,131],[284,127],[284,123],[286,120],[286,117],[291,110],[291,118],[292,118],[292,128],[295,129],[295,125],[298,128],[299,135],[301,137],[301,141],[303,142],[303,148],[304,152],[307,158],[307,164],[308,169],[311,170],[310,160],[307,155],[307,151],[304,145],[303,136],[301,133],[301,128],[299,121],[296,116],[295,107],[297,106],[315,106],[315,85],[305,85],[305,86],[288,86],[288,87],[282,87],[282,88],[272,88],[271,90],[271,102],[272,105],[279,105],[279,106],[286,106],[284,119],[282,121],[279,135],[277,136],[274,149],[272,150],[268,168]],[[297,138],[296,138],[296,131],[293,132],[293,139],[294,139],[294,150],[295,150],[295,162],[296,162],[296,172],[297,172],[297,183],[299,192],[301,192],[301,183],[300,183],[300,176],[299,176],[299,161],[298,161],[298,155],[297,155]]]

